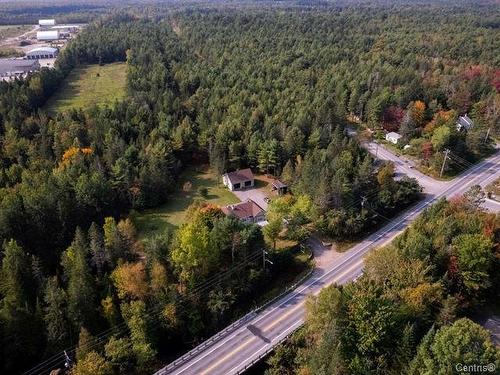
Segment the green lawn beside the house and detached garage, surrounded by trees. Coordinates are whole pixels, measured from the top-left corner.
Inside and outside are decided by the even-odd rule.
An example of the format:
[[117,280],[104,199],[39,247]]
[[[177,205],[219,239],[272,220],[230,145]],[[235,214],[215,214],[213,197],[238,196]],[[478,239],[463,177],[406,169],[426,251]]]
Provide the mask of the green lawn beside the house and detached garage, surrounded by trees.
[[[189,189],[186,183],[190,183]],[[208,190],[206,198],[198,193],[201,187]],[[132,215],[139,239],[144,240],[166,229],[178,228],[186,220],[186,209],[195,199],[204,199],[220,206],[239,202],[239,199],[227,190],[222,182],[217,183],[211,171],[187,170],[181,175],[177,191],[172,194],[167,203]]]

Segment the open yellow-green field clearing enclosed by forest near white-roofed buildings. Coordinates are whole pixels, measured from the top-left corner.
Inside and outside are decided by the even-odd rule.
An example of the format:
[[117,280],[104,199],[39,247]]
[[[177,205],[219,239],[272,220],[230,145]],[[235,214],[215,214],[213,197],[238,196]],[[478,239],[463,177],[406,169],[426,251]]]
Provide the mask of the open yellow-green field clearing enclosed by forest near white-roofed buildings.
[[127,65],[85,65],[73,69],[57,92],[48,100],[49,113],[70,108],[111,105],[125,96]]

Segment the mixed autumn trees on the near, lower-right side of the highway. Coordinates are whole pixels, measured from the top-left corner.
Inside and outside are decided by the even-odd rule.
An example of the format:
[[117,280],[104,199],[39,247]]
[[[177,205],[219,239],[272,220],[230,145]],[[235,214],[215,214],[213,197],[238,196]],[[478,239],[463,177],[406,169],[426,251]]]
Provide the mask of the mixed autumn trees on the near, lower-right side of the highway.
[[478,210],[481,199],[476,187],[439,201],[371,253],[356,283],[311,298],[305,327],[266,374],[462,373],[457,363],[497,373],[500,349],[464,317],[500,297],[500,223]]

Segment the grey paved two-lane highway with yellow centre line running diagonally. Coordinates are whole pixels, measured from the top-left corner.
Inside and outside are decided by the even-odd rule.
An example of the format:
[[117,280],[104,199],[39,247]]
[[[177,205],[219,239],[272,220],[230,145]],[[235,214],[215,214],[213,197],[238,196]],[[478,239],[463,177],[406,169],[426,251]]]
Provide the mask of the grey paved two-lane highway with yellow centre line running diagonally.
[[500,153],[497,152],[453,181],[440,183],[439,192],[434,189],[426,191],[422,201],[363,242],[332,259],[330,264],[317,268],[293,291],[264,310],[248,314],[156,374],[230,375],[243,372],[302,325],[304,302],[308,295],[319,293],[329,284],[342,284],[358,277],[363,269],[363,257],[371,249],[391,241],[436,199],[462,194],[472,185],[485,186],[499,178],[499,166]]

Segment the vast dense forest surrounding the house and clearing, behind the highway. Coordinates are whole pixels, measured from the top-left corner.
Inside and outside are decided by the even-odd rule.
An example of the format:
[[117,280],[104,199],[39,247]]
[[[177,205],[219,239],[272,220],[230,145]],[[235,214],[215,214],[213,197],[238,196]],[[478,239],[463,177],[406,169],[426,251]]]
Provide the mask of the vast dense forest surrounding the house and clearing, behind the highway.
[[[352,239],[420,188],[376,165],[348,118],[377,128],[398,108],[420,137],[440,113],[470,111],[473,132],[435,128],[449,129],[447,147],[487,152],[473,139],[498,134],[499,11],[434,6],[111,14],[56,69],[0,82],[0,371],[61,367],[71,348],[74,374],[148,373],[289,267],[269,249],[276,266],[262,270],[274,225],[262,233],[203,202],[176,232],[136,240],[129,211],[165,202],[193,163],[281,176],[295,198],[274,203],[271,223]],[[125,100],[44,113],[75,66],[114,61],[127,62]]]

